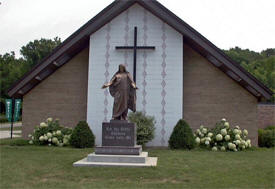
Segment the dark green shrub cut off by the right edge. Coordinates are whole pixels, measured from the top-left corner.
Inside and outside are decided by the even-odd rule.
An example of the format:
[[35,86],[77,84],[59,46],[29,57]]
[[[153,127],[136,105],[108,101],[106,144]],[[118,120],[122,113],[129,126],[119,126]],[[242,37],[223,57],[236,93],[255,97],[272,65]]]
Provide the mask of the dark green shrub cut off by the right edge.
[[269,126],[265,129],[258,130],[258,144],[260,147],[274,147],[275,146],[275,127]]

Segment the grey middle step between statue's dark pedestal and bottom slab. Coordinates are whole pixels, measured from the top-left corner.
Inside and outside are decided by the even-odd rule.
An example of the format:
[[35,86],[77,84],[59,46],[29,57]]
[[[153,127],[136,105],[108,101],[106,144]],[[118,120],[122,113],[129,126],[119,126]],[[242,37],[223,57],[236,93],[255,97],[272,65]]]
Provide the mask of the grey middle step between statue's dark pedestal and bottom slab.
[[104,162],[104,163],[145,163],[148,152],[142,152],[140,155],[105,155],[105,154],[89,154],[88,162]]

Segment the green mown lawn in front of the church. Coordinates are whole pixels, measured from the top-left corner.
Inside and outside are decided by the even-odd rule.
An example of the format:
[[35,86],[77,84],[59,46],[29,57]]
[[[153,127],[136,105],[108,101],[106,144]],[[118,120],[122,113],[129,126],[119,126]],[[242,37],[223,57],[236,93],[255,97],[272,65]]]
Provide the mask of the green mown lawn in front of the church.
[[146,149],[155,168],[73,167],[93,149],[0,140],[0,188],[275,188],[275,149]]

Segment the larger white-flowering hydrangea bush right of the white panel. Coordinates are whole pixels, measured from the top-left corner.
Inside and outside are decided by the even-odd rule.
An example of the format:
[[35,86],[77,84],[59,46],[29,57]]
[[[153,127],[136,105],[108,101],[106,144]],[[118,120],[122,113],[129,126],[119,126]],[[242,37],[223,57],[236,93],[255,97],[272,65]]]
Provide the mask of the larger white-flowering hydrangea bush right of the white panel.
[[197,145],[212,151],[241,151],[251,147],[248,131],[241,130],[239,126],[231,128],[229,122],[223,118],[216,127],[209,129],[200,126],[194,133]]

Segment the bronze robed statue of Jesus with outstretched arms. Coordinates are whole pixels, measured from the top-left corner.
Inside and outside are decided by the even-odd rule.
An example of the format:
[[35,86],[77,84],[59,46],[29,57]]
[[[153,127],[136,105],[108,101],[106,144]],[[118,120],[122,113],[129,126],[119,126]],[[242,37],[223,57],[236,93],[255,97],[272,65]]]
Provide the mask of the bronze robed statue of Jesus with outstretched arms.
[[123,64],[119,65],[111,81],[105,83],[102,89],[107,87],[114,97],[112,119],[127,120],[128,108],[133,112],[136,111],[136,89],[138,88]]

